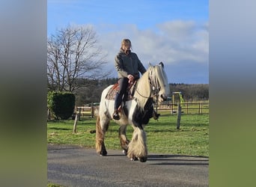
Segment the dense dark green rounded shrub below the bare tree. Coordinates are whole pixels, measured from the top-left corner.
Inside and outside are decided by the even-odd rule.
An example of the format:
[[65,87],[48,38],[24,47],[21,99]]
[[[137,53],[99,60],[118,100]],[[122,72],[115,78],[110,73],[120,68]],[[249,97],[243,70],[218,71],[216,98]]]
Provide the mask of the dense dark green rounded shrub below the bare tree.
[[68,92],[51,91],[47,95],[47,107],[57,119],[67,120],[73,114],[76,96]]

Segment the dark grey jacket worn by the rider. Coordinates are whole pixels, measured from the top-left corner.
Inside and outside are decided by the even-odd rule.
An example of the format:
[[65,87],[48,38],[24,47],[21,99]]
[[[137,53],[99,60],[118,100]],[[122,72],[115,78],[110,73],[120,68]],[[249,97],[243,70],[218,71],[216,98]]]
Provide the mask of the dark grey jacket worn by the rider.
[[129,55],[126,55],[123,49],[120,49],[115,57],[115,67],[118,70],[118,78],[127,77],[131,74],[135,79],[138,79],[139,72],[141,74],[146,72],[138,56],[134,52],[129,52]]

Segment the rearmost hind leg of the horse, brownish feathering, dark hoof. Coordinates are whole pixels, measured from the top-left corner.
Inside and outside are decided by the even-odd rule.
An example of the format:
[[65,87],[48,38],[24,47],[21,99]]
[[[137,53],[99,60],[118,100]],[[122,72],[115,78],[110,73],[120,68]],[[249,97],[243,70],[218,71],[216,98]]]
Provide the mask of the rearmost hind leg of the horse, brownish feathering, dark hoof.
[[105,133],[109,128],[109,120],[101,120],[100,116],[97,117],[96,121],[96,151],[101,156],[106,156],[107,151],[104,144]]

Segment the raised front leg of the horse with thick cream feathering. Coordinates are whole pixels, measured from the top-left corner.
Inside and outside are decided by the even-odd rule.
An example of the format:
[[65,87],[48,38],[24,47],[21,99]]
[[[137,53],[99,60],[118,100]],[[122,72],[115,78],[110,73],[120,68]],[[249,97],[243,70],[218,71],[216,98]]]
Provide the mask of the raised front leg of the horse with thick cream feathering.
[[147,136],[143,129],[135,128],[132,141],[129,142],[127,156],[129,159],[147,158]]

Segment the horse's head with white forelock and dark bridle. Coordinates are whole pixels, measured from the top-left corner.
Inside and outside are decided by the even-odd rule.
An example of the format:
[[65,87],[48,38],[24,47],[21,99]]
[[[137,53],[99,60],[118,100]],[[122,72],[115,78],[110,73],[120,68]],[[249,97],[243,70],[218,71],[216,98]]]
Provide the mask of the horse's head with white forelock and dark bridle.
[[150,65],[149,79],[153,95],[158,98],[159,102],[165,101],[170,93],[170,88],[162,62],[156,66]]

